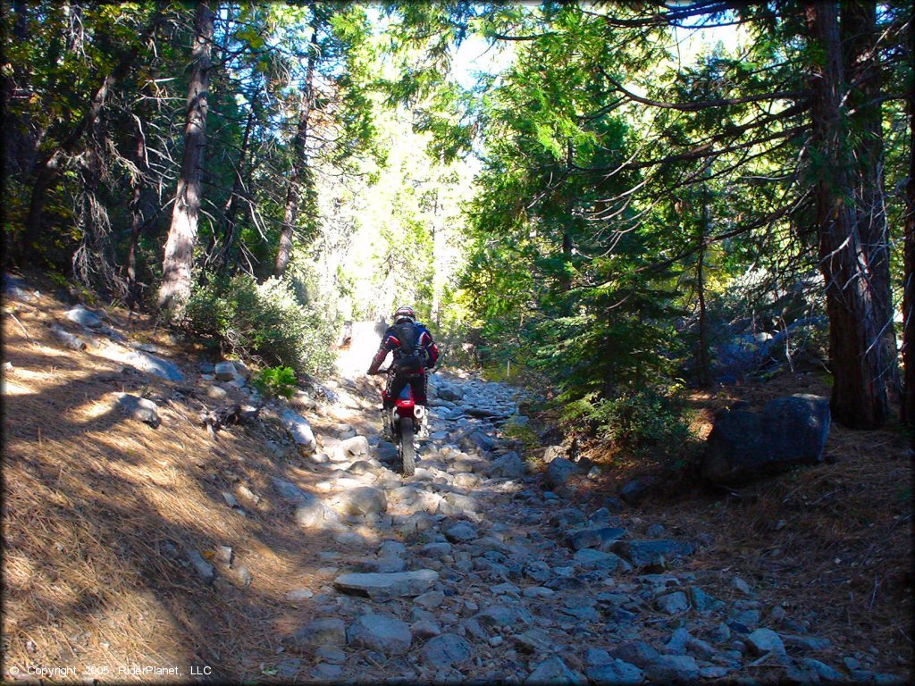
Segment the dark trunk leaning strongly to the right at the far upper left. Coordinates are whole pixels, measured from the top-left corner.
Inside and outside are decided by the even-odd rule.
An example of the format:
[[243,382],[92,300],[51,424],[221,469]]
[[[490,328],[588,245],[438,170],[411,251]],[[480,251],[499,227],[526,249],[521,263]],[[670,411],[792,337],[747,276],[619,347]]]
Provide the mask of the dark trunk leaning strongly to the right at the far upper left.
[[47,154],[39,157],[36,161],[32,170],[32,192],[28,200],[26,225],[23,237],[16,246],[17,252],[21,253],[20,256],[31,252],[40,245],[43,239],[45,202],[48,199],[48,193],[57,184],[60,167],[69,155],[73,155],[76,152],[83,134],[87,131],[92,131],[102,113],[108,94],[130,72],[140,54],[140,48],[145,45],[149,38],[153,37],[162,19],[162,7],[160,4],[156,4],[156,11],[143,35],[132,48],[124,53],[124,56],[118,61],[112,72],[102,79],[102,84],[92,95],[89,109],[80,122],[64,137],[60,145],[48,151]]

